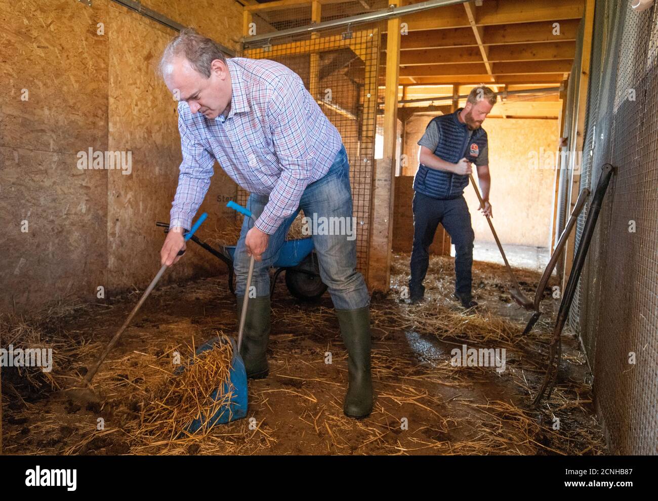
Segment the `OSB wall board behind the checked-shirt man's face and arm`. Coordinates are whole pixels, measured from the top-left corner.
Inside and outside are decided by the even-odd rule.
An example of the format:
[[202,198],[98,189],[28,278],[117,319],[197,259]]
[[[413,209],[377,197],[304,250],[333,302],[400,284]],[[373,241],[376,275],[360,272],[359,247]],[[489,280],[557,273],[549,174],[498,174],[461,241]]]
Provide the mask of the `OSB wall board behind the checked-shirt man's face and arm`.
[[[159,268],[164,233],[155,222],[169,220],[182,155],[177,103],[155,73],[172,30],[116,3],[110,5],[109,25],[109,149],[132,152],[132,174],[110,171],[108,179],[108,285],[120,290],[149,283]],[[149,43],[141,43],[146,39]],[[126,71],[126,66],[132,70]],[[226,201],[235,194],[235,183],[215,164],[211,187],[197,214],[205,211],[209,216],[199,238],[221,227],[222,218],[233,216]],[[194,243],[190,251],[165,282],[226,270]]]

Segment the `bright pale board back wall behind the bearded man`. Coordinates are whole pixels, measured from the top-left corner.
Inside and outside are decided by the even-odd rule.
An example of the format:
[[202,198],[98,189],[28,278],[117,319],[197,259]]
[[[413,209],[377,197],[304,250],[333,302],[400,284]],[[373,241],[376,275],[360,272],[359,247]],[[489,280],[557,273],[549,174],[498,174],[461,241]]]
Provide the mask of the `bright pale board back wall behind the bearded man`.
[[[403,153],[407,166],[403,174],[418,170],[417,143],[432,116],[414,116],[405,124]],[[551,238],[555,162],[547,154],[557,151],[557,120],[534,118],[488,118],[484,129],[489,139],[489,165],[492,176],[490,201],[493,226],[503,244],[548,247]],[[532,168],[530,158],[540,158]],[[475,170],[474,170],[475,173]],[[476,177],[476,176],[475,176]],[[471,186],[465,191],[476,241],[492,241],[486,219]]]

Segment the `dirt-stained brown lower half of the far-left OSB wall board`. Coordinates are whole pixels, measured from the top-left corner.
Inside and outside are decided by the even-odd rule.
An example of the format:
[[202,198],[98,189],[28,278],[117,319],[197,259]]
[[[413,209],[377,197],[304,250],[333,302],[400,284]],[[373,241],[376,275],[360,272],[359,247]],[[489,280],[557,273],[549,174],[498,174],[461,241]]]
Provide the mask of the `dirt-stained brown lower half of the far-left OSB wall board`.
[[104,285],[107,177],[75,162],[72,154],[0,147],[0,311],[93,298]]

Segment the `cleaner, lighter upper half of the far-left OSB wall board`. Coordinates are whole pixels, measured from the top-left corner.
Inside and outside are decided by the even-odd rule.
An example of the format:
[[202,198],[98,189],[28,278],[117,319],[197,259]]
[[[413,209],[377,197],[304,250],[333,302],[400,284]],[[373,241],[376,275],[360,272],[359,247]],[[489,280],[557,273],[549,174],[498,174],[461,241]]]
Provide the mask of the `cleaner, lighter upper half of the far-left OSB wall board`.
[[[107,145],[107,0],[0,0],[0,145],[76,153]],[[28,100],[22,101],[22,89]]]

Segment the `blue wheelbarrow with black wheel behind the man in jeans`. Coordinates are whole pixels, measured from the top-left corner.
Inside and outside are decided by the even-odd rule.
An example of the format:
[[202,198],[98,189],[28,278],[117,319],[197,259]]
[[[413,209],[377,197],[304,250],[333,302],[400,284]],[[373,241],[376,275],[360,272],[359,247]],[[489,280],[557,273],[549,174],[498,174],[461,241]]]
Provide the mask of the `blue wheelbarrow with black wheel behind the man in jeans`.
[[[168,223],[156,222],[155,225],[164,227],[164,233],[169,231]],[[215,249],[215,247],[199,239],[196,235],[192,235],[190,240],[226,264],[228,268],[228,289],[235,295],[233,261],[236,246],[222,245]],[[270,297],[274,296],[274,287],[282,272],[286,272],[288,291],[299,300],[309,302],[318,300],[327,290],[327,286],[322,283],[320,278],[320,266],[311,237],[286,240],[272,268],[274,269],[274,275],[270,280]]]

